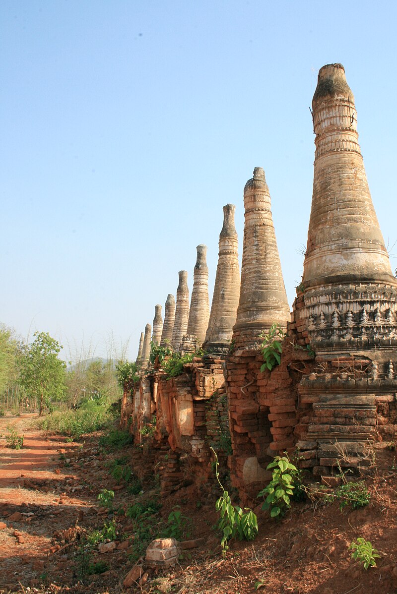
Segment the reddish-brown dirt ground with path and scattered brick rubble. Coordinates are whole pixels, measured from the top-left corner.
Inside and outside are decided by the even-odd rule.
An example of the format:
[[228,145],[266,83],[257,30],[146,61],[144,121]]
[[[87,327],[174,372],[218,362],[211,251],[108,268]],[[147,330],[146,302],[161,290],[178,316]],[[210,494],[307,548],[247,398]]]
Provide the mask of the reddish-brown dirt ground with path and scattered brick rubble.
[[[365,477],[371,493],[367,507],[341,511],[337,503],[317,499],[295,503],[276,522],[259,505],[259,536],[231,542],[223,560],[219,532],[213,529],[215,496],[200,497],[190,486],[158,501],[153,481],[131,495],[127,484],[109,475],[109,460],[120,452],[101,448],[97,434],[78,444],[46,436],[31,428],[36,416],[0,418],[0,593],[248,594],[257,584],[257,591],[268,594],[397,594],[396,451],[377,451],[376,470]],[[5,447],[10,424],[24,434],[21,450]],[[116,514],[98,505],[102,488],[114,490]],[[122,582],[135,563],[137,527],[124,510],[147,497],[162,504],[163,519],[180,505],[190,519],[190,538],[204,539],[176,568],[153,571],[143,563],[143,579],[128,588]],[[92,558],[106,570],[82,579],[80,537],[111,520],[117,526],[116,548],[95,550]],[[360,536],[381,555],[377,567],[367,571],[348,550]]]

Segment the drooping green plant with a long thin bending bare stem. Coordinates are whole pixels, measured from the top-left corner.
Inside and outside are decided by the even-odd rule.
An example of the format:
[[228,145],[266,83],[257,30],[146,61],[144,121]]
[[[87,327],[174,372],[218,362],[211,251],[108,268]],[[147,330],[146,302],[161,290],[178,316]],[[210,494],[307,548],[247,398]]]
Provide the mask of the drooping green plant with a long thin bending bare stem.
[[226,551],[229,549],[229,539],[237,537],[240,541],[243,539],[252,541],[256,538],[258,534],[258,520],[250,508],[244,507],[244,512],[238,505],[232,505],[228,491],[225,491],[219,480],[218,456],[216,455],[214,448],[211,448],[211,450],[216,460],[216,480],[222,489],[222,495],[219,497],[218,501],[216,501],[215,509],[219,513],[218,527],[223,535],[220,545],[222,546],[223,557],[225,557]]

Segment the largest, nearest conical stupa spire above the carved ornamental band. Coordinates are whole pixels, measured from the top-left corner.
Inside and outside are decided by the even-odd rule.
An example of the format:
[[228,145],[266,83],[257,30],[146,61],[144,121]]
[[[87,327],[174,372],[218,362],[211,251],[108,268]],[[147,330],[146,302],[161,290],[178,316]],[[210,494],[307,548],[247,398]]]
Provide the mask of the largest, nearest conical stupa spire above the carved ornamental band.
[[312,105],[316,156],[303,285],[339,280],[395,283],[358,145],[354,96],[342,64],[320,68]]

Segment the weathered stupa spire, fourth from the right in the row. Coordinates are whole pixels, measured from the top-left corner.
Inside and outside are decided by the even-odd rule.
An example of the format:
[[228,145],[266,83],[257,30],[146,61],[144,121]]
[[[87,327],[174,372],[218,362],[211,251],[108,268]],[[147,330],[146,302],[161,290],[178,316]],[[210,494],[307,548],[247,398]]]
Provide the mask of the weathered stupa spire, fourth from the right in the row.
[[196,249],[197,260],[193,272],[189,319],[181,347],[181,350],[187,352],[194,352],[203,344],[210,316],[207,246],[200,244]]

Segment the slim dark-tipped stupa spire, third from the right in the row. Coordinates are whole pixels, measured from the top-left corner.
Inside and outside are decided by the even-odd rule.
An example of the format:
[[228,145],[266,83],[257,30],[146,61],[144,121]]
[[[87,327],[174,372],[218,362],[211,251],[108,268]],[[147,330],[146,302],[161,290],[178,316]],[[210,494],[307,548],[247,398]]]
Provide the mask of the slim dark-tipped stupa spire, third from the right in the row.
[[219,258],[211,313],[203,348],[210,353],[228,353],[236,321],[240,289],[238,238],[234,225],[234,204],[223,207],[223,227],[219,235]]

